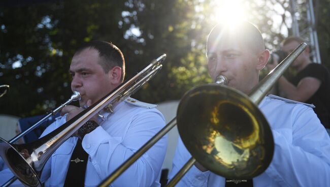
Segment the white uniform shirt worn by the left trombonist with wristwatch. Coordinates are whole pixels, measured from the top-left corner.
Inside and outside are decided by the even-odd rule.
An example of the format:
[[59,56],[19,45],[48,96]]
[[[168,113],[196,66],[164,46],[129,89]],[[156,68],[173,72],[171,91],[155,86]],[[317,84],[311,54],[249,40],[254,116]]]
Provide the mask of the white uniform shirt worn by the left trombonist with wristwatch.
[[[64,122],[65,117],[58,118],[42,136],[52,132]],[[163,115],[154,108],[147,109],[129,102],[118,104],[114,108],[114,114],[102,122],[101,127],[85,135],[82,141],[82,147],[89,154],[85,186],[100,184],[164,125]],[[69,138],[47,161],[41,176],[42,182],[46,181],[46,186],[63,186],[77,139]],[[166,150],[167,137],[163,137],[111,186],[160,186],[160,170]],[[8,179],[6,177],[1,181],[4,183]]]

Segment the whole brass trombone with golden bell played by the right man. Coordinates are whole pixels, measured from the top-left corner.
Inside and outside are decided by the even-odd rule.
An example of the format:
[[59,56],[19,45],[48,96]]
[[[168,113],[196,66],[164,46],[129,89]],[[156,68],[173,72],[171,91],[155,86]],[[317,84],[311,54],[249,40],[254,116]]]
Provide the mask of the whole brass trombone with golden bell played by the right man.
[[176,124],[192,158],[168,186],[174,186],[196,161],[226,178],[249,179],[261,174],[271,163],[274,140],[268,121],[257,105],[306,47],[306,43],[298,46],[251,90],[249,96],[225,86],[224,76],[219,76],[215,83],[190,89],[179,104],[177,117],[99,186],[113,182]]

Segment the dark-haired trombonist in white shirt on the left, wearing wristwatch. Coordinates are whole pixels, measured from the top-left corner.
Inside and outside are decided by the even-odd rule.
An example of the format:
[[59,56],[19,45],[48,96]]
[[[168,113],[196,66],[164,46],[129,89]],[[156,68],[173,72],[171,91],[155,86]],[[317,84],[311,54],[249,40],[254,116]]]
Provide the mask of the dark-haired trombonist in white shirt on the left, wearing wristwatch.
[[[64,107],[62,116],[42,136],[120,85],[125,74],[124,57],[111,43],[88,42],[74,54],[69,72],[72,90],[81,95],[80,107]],[[155,105],[128,98],[116,106],[108,106],[84,123],[51,155],[42,170],[41,181],[46,186],[96,186],[156,134],[164,123],[164,117]],[[112,186],[160,186],[158,181],[166,148],[167,138],[164,137]],[[0,183],[12,177],[8,170],[0,174]]]

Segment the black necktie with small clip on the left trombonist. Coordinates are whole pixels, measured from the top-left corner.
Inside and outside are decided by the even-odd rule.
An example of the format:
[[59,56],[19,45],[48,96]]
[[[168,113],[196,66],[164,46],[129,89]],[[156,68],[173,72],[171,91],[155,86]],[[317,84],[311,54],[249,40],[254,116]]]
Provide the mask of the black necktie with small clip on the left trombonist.
[[75,150],[71,156],[64,186],[84,186],[87,160],[88,154],[82,148],[81,140],[78,139]]

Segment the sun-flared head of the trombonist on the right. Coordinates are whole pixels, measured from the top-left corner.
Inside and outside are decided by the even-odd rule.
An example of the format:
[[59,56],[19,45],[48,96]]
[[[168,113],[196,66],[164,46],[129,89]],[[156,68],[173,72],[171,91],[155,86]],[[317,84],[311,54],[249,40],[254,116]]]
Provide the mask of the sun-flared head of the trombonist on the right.
[[259,81],[259,71],[266,66],[269,50],[265,49],[261,33],[250,22],[237,25],[218,24],[207,41],[208,69],[213,80],[227,78],[227,86],[244,93]]

